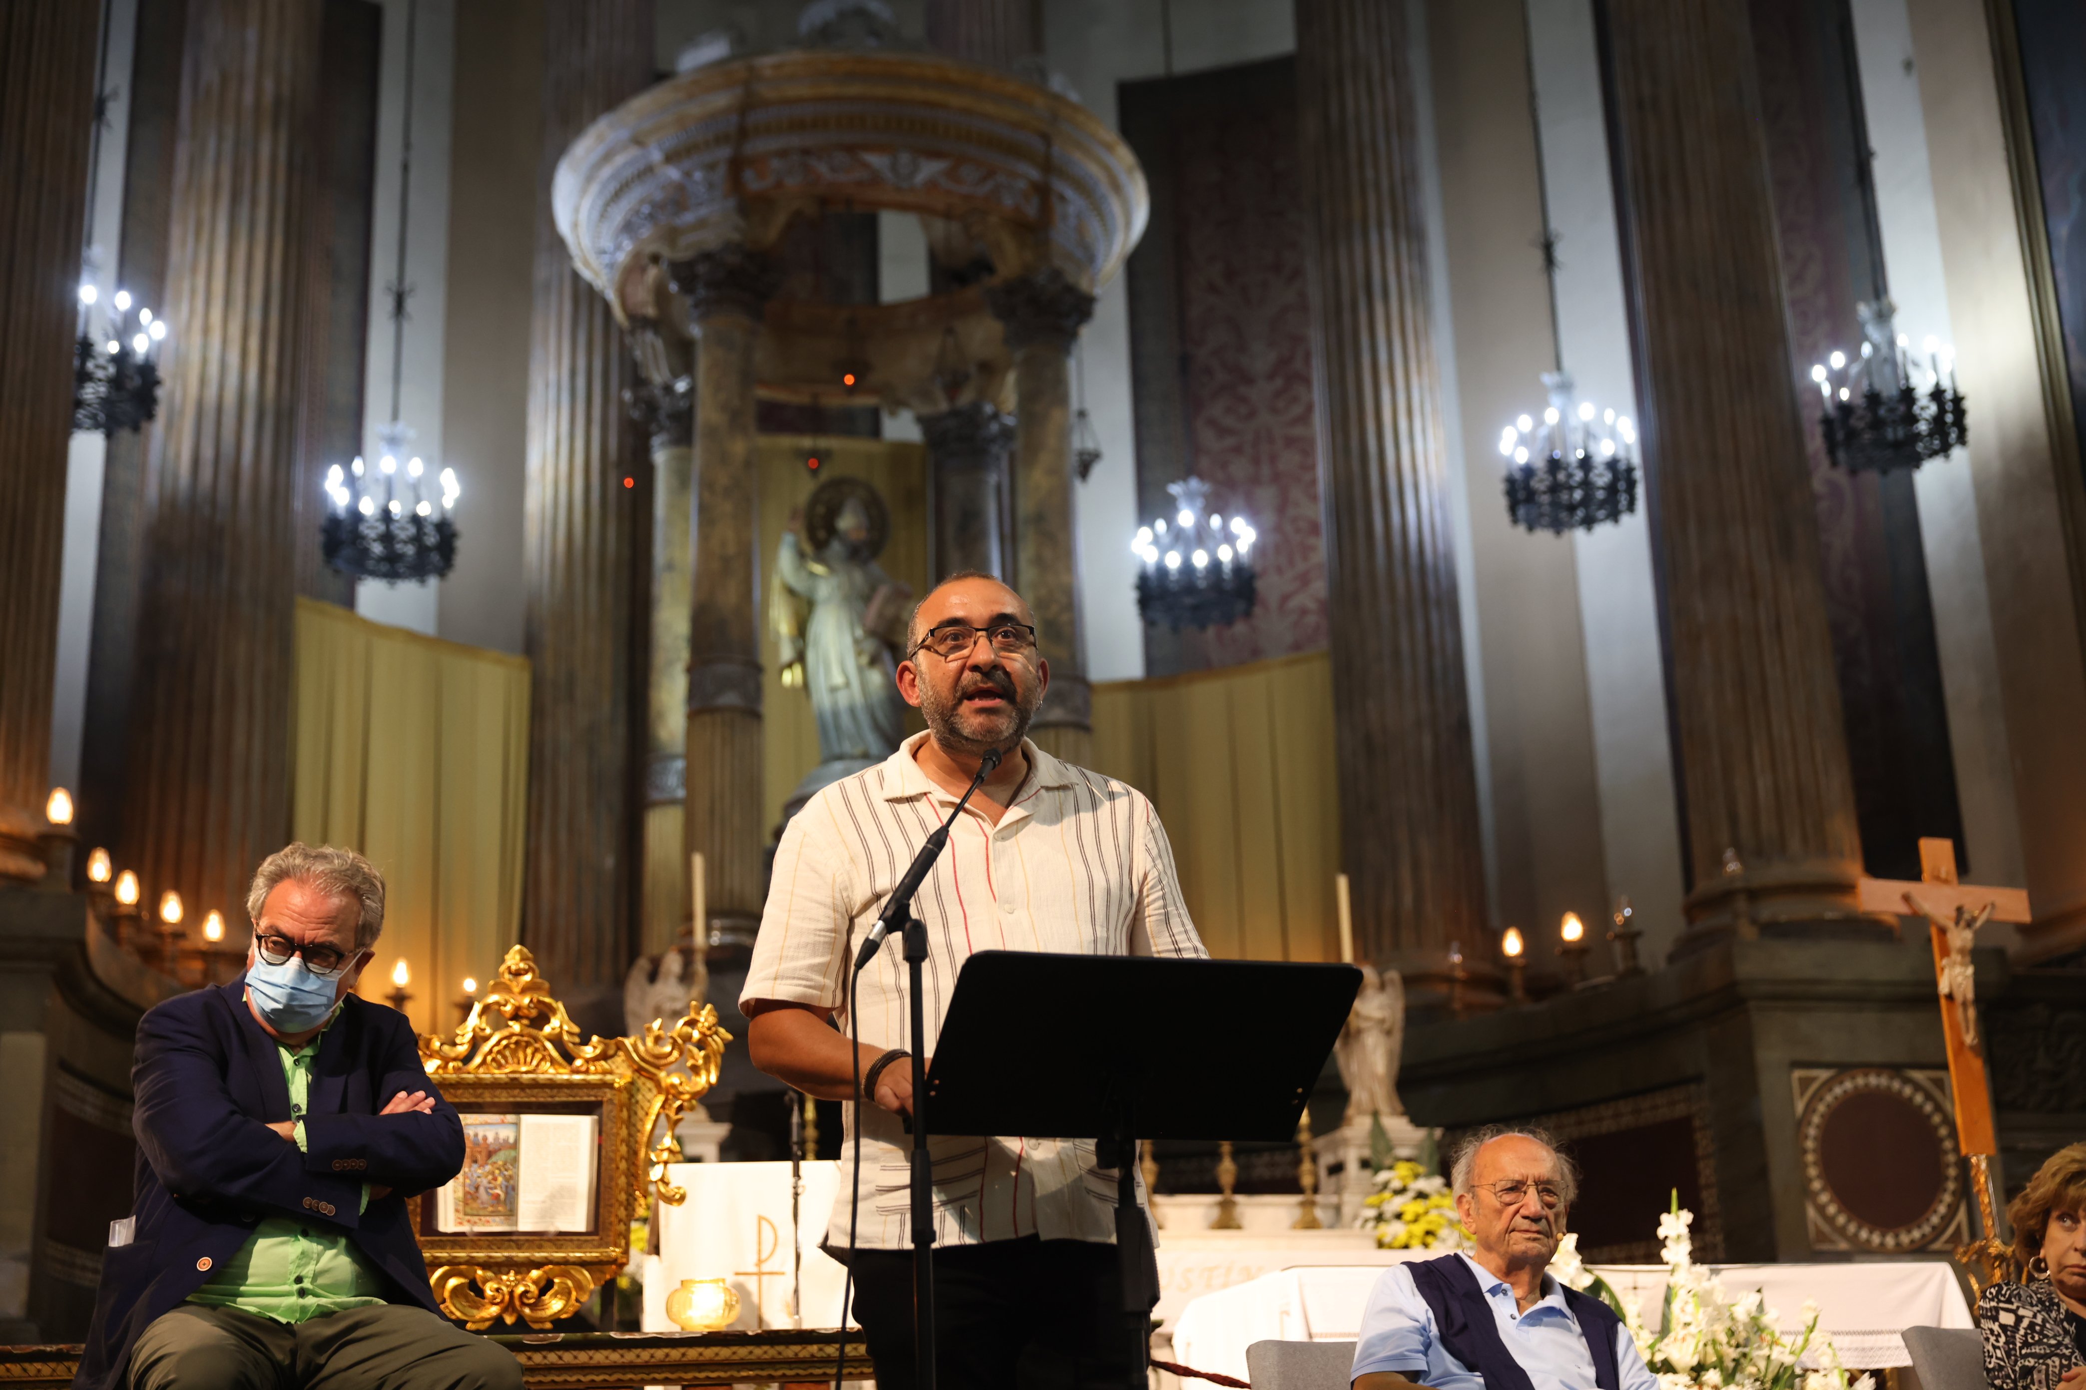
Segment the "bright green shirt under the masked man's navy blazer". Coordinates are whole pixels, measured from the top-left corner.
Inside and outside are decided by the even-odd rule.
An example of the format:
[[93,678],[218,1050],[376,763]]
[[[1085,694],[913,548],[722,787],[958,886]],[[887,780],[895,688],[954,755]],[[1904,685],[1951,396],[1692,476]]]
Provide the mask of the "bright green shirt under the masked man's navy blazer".
[[[282,1079],[290,1086],[290,1119],[296,1121],[298,1148],[305,1148],[311,1065],[319,1057],[323,1036],[325,1029],[319,1029],[296,1052],[275,1044],[275,1052],[282,1054]],[[369,1207],[367,1184],[363,1184],[363,1207]],[[290,1217],[261,1221],[240,1252],[219,1265],[211,1282],[188,1300],[213,1309],[244,1309],[280,1323],[302,1323],[328,1313],[390,1302],[384,1298],[384,1275],[355,1248],[346,1232],[317,1219]]]

